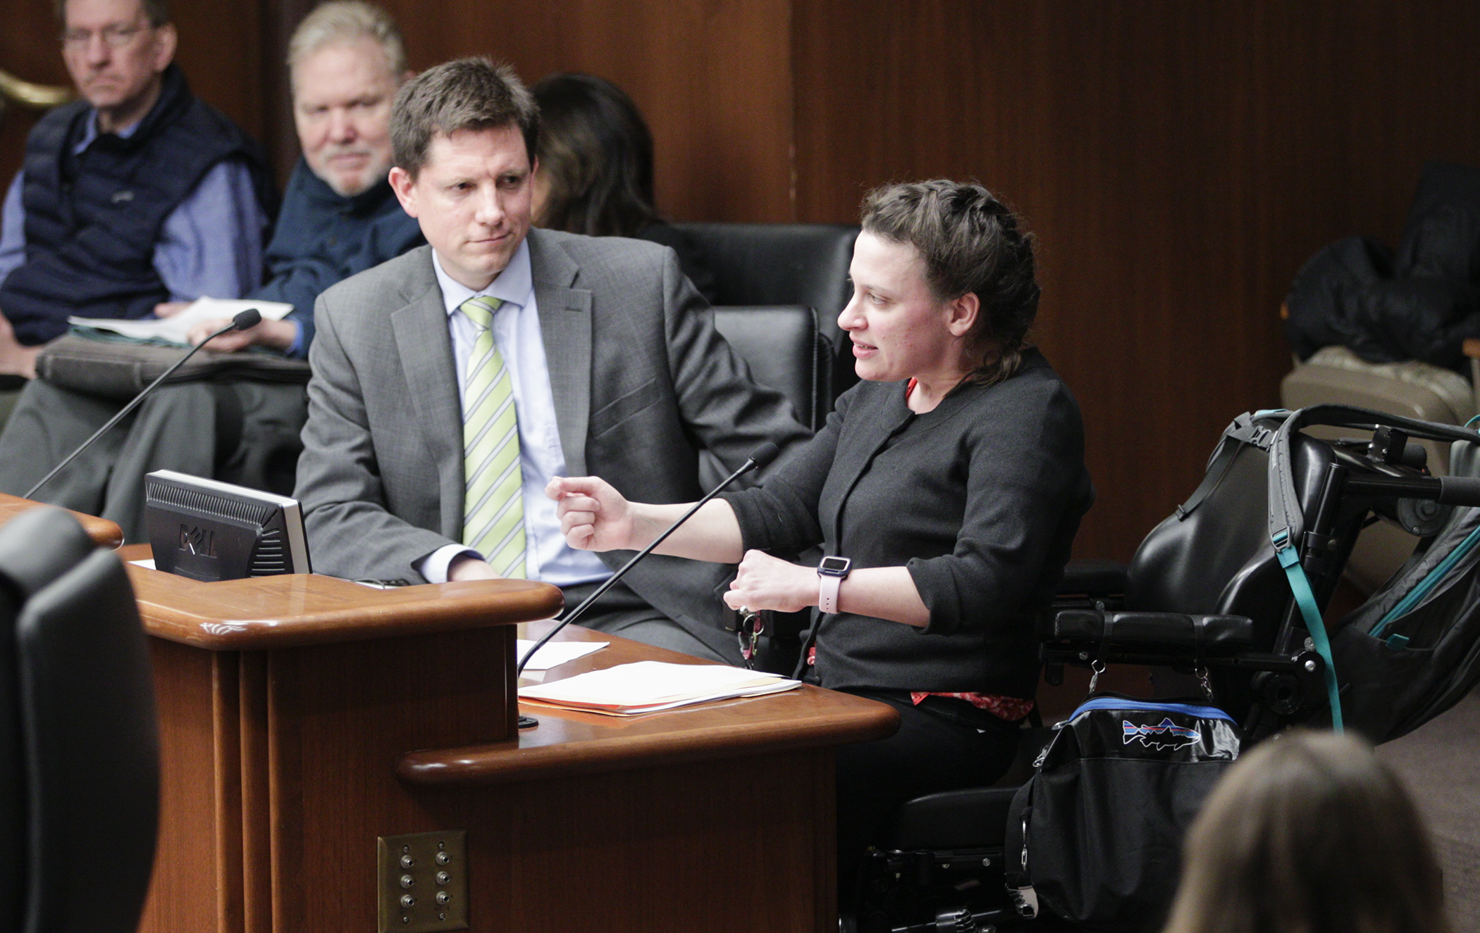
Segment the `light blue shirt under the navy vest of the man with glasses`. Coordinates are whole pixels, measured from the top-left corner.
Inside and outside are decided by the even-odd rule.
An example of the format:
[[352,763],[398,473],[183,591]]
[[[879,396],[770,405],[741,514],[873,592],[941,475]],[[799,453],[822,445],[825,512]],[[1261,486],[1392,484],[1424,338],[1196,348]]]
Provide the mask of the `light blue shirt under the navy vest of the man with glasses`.
[[[136,129],[138,123],[118,130],[118,136],[127,139]],[[73,151],[81,152],[95,139],[96,114],[87,120],[87,132]],[[24,176],[16,172],[0,211],[0,282],[25,262]],[[262,284],[266,226],[268,216],[258,203],[247,166],[226,158],[212,167],[164,219],[154,244],[154,269],[170,290],[170,300],[235,299]]]

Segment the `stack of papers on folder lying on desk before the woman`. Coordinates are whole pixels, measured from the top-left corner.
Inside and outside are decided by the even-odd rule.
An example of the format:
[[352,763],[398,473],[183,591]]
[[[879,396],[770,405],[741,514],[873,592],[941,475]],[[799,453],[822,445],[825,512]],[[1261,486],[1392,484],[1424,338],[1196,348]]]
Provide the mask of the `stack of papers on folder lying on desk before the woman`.
[[799,680],[722,664],[638,661],[521,688],[519,699],[607,716],[636,716],[706,699],[780,693],[799,686]]

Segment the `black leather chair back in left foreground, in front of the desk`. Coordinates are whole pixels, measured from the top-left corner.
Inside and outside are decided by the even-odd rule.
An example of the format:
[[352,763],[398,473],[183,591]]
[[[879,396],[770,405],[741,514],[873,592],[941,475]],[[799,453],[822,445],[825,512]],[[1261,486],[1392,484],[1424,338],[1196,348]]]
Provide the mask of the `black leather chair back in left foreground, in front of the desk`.
[[61,509],[0,528],[0,929],[139,924],[158,824],[149,651],[118,557]]

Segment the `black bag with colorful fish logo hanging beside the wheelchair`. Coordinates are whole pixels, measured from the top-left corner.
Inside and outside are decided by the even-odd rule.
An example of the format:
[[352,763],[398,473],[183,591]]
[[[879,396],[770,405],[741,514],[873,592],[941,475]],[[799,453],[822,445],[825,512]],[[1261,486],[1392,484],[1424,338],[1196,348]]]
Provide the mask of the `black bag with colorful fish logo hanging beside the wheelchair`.
[[1018,912],[1094,930],[1160,929],[1183,835],[1239,757],[1237,726],[1208,705],[1100,695],[1055,729],[1008,812]]

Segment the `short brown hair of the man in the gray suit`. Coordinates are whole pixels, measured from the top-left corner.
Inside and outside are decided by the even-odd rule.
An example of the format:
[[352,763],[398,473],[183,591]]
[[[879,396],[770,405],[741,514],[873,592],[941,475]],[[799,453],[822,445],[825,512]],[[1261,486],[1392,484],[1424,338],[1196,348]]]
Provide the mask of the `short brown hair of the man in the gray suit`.
[[401,86],[391,109],[391,151],[395,164],[416,177],[426,164],[432,138],[457,130],[518,126],[534,160],[540,108],[534,95],[508,65],[487,58],[460,58],[428,68]]

